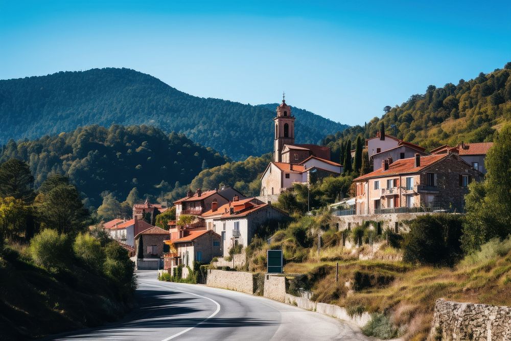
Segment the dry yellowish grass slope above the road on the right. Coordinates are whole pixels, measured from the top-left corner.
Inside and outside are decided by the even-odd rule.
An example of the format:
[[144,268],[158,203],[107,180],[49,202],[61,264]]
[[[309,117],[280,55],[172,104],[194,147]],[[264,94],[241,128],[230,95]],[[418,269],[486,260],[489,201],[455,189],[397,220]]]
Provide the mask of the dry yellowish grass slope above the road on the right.
[[[332,251],[328,251],[332,252]],[[383,251],[395,253],[394,251]],[[288,273],[307,274],[319,266],[334,270],[313,285],[313,299],[337,304],[347,311],[384,313],[404,340],[422,340],[429,333],[435,301],[438,298],[459,302],[511,305],[511,240],[492,240],[481,251],[466,256],[457,266],[412,266],[401,261],[339,261],[339,281],[335,282],[336,261],[288,263]],[[356,290],[356,274],[381,275],[387,280],[367,280]],[[360,277],[360,275],[357,275]],[[349,287],[345,283],[350,283]],[[375,315],[376,316],[376,315]],[[378,315],[371,327],[388,330]],[[383,322],[385,323],[383,323]],[[372,335],[372,334],[371,334]],[[378,337],[381,337],[380,336]]]

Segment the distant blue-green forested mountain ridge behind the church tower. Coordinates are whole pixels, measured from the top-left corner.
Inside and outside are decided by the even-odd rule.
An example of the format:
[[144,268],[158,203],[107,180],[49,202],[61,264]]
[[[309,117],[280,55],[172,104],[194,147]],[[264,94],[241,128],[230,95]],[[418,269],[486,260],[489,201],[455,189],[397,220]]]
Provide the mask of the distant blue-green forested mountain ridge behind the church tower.
[[[129,69],[59,72],[0,80],[0,144],[91,124],[146,124],[244,160],[272,150],[275,107],[191,96]],[[295,115],[297,143],[347,127],[306,110]]]

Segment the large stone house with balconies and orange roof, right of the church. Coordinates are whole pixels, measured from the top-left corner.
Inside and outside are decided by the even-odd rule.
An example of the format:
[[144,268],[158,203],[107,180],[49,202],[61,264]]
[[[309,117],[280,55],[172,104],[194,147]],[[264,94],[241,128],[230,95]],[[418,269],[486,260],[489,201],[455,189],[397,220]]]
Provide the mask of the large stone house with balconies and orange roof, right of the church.
[[[380,169],[354,179],[355,214],[398,212],[402,208],[434,207],[463,210],[471,181],[482,179],[455,153],[382,161]],[[403,212],[407,210],[402,210]]]

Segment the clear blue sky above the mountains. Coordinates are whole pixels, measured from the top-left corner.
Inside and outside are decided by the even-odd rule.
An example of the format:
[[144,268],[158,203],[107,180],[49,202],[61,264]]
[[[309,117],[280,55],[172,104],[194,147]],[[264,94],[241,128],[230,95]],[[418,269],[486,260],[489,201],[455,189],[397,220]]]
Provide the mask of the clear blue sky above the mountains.
[[[313,4],[314,3],[314,4]],[[346,124],[511,61],[511,2],[0,0],[0,79],[129,67]]]

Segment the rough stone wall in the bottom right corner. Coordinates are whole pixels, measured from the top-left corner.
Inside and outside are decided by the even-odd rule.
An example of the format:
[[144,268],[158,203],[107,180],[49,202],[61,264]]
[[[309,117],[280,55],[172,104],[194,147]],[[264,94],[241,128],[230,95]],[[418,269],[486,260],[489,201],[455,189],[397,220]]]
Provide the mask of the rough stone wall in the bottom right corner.
[[511,307],[438,299],[431,340],[510,340]]

